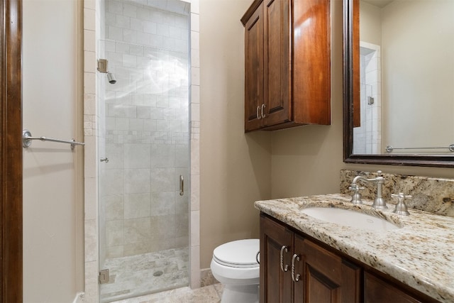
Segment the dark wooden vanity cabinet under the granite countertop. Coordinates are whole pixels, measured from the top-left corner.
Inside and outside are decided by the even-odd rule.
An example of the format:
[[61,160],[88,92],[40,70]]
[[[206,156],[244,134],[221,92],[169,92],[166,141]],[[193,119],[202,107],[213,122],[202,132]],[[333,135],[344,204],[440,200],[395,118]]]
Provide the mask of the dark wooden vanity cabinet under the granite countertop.
[[261,213],[260,302],[438,301]]

